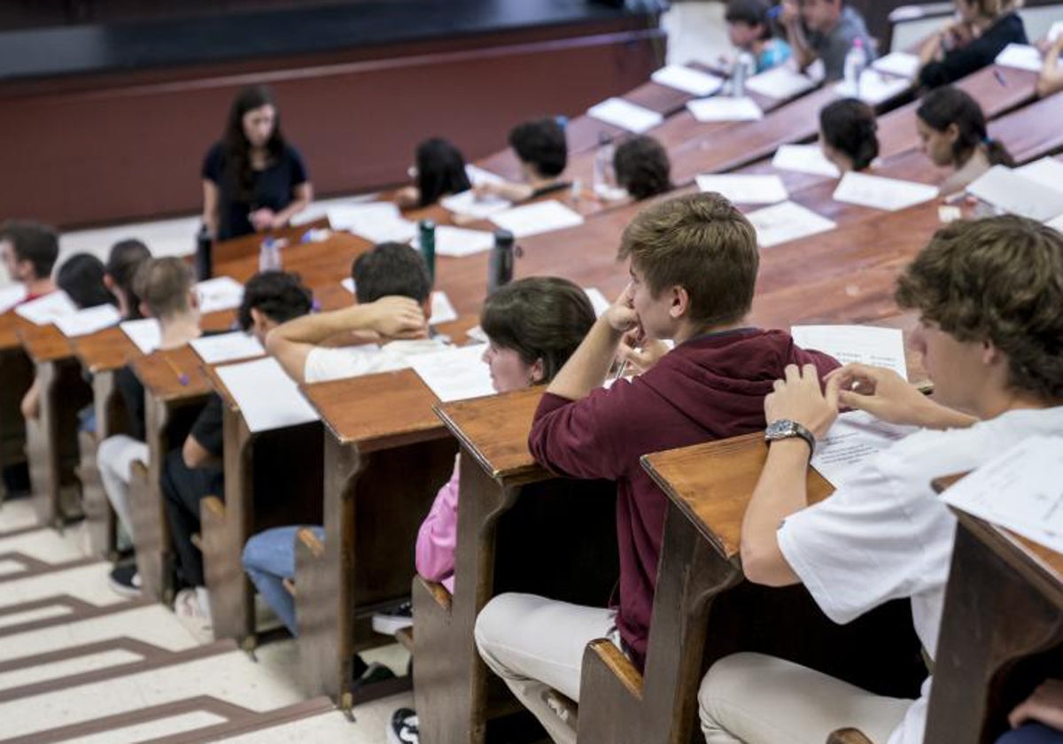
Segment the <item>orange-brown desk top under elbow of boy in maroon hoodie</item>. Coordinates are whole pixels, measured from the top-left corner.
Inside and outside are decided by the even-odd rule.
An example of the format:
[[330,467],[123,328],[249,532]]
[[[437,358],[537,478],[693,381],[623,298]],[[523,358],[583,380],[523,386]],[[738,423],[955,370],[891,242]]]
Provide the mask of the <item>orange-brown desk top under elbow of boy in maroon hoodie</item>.
[[436,406],[451,433],[494,478],[535,479],[545,470],[532,458],[528,434],[541,386]]

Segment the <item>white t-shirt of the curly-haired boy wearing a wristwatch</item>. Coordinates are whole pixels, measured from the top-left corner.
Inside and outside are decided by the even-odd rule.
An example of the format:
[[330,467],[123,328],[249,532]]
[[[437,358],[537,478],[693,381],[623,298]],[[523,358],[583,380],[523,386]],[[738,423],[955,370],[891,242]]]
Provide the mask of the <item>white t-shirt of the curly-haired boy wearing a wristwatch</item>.
[[[1063,407],[1013,410],[967,429],[923,430],[876,455],[829,498],[779,526],[782,555],[824,613],[848,623],[910,597],[915,632],[934,656],[956,518],[930,486],[974,470],[1022,439],[1063,435]],[[930,679],[889,744],[919,744]]]

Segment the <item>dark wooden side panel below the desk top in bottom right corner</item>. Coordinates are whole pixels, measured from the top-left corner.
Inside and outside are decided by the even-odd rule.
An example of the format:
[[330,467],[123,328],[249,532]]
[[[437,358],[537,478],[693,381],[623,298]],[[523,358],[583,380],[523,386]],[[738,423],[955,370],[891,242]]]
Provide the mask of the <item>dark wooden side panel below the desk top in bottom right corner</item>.
[[[945,595],[926,741],[989,742],[1003,723],[999,693],[1011,664],[1063,642],[1063,615],[1027,574],[960,525]],[[1014,555],[1002,546],[1001,553]]]

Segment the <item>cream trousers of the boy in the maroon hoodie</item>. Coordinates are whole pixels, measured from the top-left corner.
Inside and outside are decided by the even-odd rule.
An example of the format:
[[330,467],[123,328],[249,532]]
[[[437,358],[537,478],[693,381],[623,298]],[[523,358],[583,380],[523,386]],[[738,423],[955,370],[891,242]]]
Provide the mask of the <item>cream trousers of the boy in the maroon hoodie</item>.
[[556,690],[579,701],[584,649],[600,638],[619,643],[617,613],[533,594],[500,594],[476,618],[476,647],[517,698],[558,744],[575,742],[575,728],[546,703]]

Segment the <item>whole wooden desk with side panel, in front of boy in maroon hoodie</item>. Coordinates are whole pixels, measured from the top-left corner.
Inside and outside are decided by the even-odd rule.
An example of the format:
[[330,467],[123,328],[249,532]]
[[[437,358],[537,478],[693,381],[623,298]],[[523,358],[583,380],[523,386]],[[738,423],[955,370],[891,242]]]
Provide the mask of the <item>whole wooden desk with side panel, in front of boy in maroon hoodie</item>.
[[453,596],[414,582],[414,694],[426,744],[482,744],[492,720],[520,710],[473,641],[492,596],[525,591],[604,607],[619,572],[615,486],[553,478],[527,451],[541,394],[437,408],[461,444],[461,496]]

